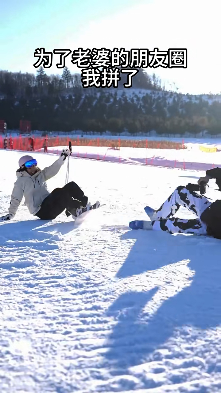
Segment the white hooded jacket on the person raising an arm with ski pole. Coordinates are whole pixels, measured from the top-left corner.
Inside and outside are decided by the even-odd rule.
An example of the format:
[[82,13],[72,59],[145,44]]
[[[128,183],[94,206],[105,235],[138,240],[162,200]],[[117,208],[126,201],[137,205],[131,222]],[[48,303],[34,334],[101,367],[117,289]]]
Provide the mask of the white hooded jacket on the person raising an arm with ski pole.
[[38,168],[37,173],[33,174],[33,176],[26,171],[17,171],[17,180],[11,194],[11,202],[8,209],[9,214],[15,217],[18,206],[24,196],[29,212],[35,215],[40,210],[43,200],[50,195],[46,180],[55,176],[63,163],[63,157],[60,156],[50,167],[46,167],[42,171]]

